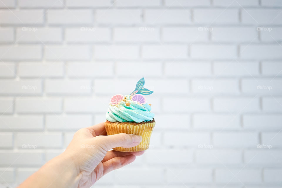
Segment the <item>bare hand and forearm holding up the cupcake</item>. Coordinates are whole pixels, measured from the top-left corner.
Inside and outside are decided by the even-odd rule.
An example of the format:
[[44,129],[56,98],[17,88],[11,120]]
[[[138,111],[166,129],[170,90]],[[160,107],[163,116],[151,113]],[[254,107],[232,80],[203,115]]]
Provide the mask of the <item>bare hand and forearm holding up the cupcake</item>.
[[139,135],[108,135],[104,123],[78,130],[66,150],[44,164],[18,188],[88,188],[108,172],[133,162],[140,152],[118,152],[114,147],[134,147]]

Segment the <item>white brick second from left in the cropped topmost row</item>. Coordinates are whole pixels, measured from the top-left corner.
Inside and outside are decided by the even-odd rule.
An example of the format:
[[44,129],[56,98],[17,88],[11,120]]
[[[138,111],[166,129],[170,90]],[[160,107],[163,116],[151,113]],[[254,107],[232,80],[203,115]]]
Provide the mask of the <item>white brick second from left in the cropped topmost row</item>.
[[21,8],[63,8],[64,4],[56,0],[19,0],[18,5]]

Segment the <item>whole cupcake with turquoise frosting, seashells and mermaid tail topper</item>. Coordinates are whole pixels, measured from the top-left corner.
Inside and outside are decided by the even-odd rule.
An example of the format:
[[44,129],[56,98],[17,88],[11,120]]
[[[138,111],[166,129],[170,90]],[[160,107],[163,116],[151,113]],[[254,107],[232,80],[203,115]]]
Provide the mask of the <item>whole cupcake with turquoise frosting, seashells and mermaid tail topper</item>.
[[139,145],[130,148],[115,147],[113,150],[122,152],[135,152],[147,150],[150,145],[150,137],[156,124],[151,112],[151,104],[146,102],[144,95],[150,95],[153,91],[144,88],[145,80],[141,78],[135,90],[129,95],[114,95],[109,103],[106,113],[105,128],[108,135],[127,133],[141,135]]

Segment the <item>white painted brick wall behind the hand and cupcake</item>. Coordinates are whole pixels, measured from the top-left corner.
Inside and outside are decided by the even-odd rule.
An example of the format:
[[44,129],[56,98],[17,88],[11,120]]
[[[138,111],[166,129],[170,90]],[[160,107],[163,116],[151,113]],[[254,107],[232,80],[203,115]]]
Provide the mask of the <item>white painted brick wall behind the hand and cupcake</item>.
[[282,1],[0,0],[0,187],[145,77],[150,149],[94,187],[282,186]]

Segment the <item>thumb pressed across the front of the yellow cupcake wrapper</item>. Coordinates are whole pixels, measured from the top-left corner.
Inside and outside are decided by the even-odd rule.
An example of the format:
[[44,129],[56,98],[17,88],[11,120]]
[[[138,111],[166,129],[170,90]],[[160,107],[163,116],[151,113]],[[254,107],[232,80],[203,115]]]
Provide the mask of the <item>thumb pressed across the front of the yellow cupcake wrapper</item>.
[[114,147],[134,147],[142,141],[142,136],[119,133],[108,136],[97,136],[95,142],[106,151]]

